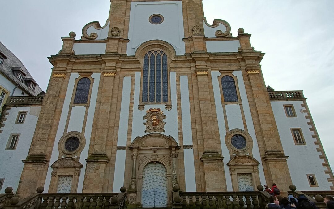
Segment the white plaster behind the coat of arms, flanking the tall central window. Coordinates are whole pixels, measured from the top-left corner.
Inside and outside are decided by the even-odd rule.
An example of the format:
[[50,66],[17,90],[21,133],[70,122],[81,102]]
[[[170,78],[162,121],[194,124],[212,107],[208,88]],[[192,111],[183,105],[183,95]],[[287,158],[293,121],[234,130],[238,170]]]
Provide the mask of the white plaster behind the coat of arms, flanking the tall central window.
[[165,132],[162,134],[169,136],[171,135],[177,143],[179,143],[179,135],[178,135],[178,120],[177,120],[177,99],[176,99],[176,73],[170,72],[170,97],[172,102],[172,109],[170,111],[166,110],[165,104],[147,104],[145,105],[145,109],[143,111],[138,110],[139,98],[140,98],[140,72],[136,72],[135,77],[135,95],[134,95],[134,108],[133,108],[133,120],[132,120],[132,137],[131,141],[133,141],[137,136],[143,136],[148,133],[145,133],[146,127],[144,125],[144,116],[146,115],[146,110],[150,108],[160,108],[161,111],[164,111],[164,115],[166,115],[166,119],[164,122]]

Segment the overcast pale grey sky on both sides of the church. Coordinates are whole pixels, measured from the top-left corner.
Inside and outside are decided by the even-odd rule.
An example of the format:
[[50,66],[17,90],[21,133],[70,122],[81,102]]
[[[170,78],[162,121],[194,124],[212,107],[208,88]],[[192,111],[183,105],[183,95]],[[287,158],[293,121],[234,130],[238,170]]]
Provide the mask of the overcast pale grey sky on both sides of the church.
[[[255,50],[266,53],[262,71],[275,90],[304,90],[334,169],[334,1],[203,0],[209,24],[226,20],[233,36],[242,27]],[[70,31],[80,38],[91,21],[105,25],[110,0],[1,0],[0,41],[46,90],[51,64]]]

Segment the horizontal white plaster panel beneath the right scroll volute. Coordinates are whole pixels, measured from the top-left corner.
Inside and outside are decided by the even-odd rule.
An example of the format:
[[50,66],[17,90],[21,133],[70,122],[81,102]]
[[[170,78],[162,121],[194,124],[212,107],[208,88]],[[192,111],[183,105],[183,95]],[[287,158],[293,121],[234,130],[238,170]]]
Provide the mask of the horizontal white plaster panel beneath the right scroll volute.
[[237,52],[240,47],[239,40],[226,40],[226,41],[205,41],[207,52]]

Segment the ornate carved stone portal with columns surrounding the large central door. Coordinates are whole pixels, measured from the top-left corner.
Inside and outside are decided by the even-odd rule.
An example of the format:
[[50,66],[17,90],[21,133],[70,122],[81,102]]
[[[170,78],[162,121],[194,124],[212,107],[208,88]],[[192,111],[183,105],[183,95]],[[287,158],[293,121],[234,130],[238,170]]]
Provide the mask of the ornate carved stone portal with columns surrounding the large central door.
[[[129,203],[131,207],[140,207],[142,202],[142,184],[144,168],[150,163],[160,163],[167,171],[168,205],[171,205],[171,193],[178,186],[178,146],[175,139],[160,133],[137,136],[130,145],[132,150],[132,172],[129,185]],[[138,159],[138,160],[137,160]]]

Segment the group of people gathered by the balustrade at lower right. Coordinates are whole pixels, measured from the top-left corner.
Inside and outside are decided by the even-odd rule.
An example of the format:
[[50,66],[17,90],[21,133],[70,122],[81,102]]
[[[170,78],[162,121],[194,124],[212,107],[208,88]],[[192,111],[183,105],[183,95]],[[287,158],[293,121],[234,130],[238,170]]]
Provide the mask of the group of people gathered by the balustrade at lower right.
[[[269,198],[268,209],[318,209],[314,202],[309,201],[303,194],[299,195],[298,198],[292,194],[284,197],[276,184],[273,184],[271,189],[267,185],[265,185],[265,188],[265,191],[272,195]],[[334,209],[334,198],[332,196],[326,195],[324,203],[326,203],[328,209]]]

